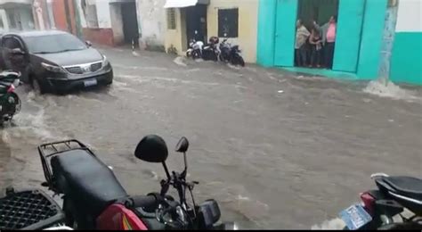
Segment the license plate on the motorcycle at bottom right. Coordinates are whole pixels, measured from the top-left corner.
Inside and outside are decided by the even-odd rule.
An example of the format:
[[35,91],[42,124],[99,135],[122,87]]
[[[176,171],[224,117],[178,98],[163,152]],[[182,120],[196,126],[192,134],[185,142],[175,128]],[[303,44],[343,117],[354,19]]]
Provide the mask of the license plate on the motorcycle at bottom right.
[[340,212],[340,218],[350,230],[357,230],[368,224],[372,217],[360,204],[354,204]]

